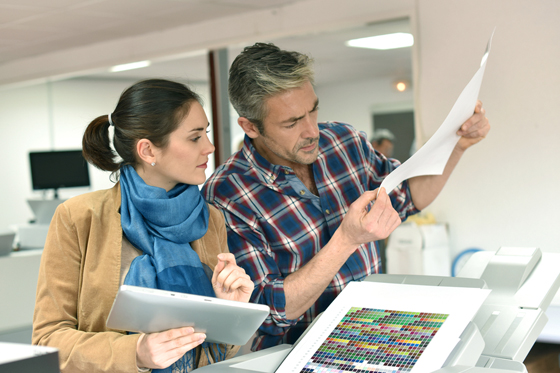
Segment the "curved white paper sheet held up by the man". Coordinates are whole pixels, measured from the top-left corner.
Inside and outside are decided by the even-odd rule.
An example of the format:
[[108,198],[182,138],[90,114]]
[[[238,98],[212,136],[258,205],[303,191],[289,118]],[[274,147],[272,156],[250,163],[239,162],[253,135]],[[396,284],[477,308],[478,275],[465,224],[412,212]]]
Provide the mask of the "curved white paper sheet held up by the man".
[[[494,33],[492,33],[492,36]],[[453,108],[443,121],[436,133],[424,144],[420,150],[412,155],[406,162],[391,172],[381,183],[387,193],[391,192],[397,185],[411,177],[421,175],[441,175],[447,164],[447,160],[461,136],[457,131],[474,112],[478,92],[482,84],[486,60],[490,53],[492,36],[488,40],[486,52],[482,56],[480,68],[467,84]]]

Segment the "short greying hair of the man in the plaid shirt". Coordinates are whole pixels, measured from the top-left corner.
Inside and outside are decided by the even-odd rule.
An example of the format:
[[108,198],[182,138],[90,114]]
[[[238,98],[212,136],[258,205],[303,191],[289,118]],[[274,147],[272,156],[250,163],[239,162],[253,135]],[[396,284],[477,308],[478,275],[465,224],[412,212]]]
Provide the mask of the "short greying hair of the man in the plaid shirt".
[[264,134],[265,100],[270,96],[313,84],[313,59],[305,54],[281,50],[272,43],[245,47],[229,70],[231,104]]

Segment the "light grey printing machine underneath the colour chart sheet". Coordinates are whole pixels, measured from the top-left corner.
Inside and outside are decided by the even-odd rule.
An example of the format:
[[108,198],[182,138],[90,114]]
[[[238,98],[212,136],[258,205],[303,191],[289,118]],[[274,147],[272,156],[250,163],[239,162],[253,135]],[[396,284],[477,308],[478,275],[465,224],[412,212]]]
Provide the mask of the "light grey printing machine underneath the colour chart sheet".
[[[443,367],[433,373],[527,373],[523,361],[548,321],[545,311],[560,286],[560,254],[502,247],[473,254],[457,277],[379,274],[364,281],[491,289]],[[197,371],[273,373],[295,346],[282,344]]]

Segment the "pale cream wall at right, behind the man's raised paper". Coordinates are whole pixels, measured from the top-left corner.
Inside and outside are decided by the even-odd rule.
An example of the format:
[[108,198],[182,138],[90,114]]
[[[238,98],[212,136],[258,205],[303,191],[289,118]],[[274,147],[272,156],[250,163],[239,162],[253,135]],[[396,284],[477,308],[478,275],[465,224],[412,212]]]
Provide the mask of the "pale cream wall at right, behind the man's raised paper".
[[478,68],[492,129],[428,210],[468,247],[560,252],[560,2],[417,1],[422,129],[431,135]]

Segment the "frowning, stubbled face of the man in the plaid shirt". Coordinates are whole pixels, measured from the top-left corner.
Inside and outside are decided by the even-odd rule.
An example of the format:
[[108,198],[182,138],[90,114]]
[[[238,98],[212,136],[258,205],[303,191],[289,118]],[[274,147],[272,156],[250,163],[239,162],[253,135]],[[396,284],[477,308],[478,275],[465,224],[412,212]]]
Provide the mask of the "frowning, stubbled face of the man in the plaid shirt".
[[253,138],[257,151],[269,162],[294,168],[308,165],[319,153],[319,100],[311,83],[266,100],[264,135]]

